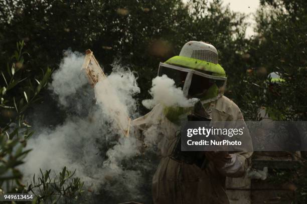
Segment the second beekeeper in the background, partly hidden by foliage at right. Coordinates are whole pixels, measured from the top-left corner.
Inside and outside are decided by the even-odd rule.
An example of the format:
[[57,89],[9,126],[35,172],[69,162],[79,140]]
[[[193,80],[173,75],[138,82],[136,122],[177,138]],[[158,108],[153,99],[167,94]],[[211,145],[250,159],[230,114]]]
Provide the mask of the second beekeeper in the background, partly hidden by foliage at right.
[[[287,119],[286,115],[281,109],[278,109],[277,105],[282,99],[282,86],[285,85],[285,83],[285,79],[283,79],[279,72],[269,73],[265,80],[266,88],[264,89],[264,97],[271,105],[267,107],[262,106],[258,110],[257,120],[259,120],[259,124],[261,125],[259,129],[266,130],[266,134],[260,133],[257,136],[259,136],[259,138],[263,137],[262,140],[264,140],[265,144],[268,146],[264,149],[268,151],[257,152],[257,155],[268,155],[281,158],[292,152],[292,157],[294,156],[294,159],[296,159],[296,156],[300,157],[300,148],[304,149],[304,146],[307,144],[307,137],[305,136],[305,130],[302,128],[304,126],[302,122],[280,122]],[[274,133],[275,129],[279,130],[277,131],[278,133],[272,134],[274,136],[269,137],[268,133]],[[293,151],[291,151],[291,149]]]

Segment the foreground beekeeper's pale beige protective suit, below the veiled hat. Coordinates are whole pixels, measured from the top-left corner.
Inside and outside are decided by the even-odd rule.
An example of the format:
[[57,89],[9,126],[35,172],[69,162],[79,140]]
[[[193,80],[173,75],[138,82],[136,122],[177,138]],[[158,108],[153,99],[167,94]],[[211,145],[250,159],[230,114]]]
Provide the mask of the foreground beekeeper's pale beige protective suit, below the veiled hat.
[[[206,169],[196,165],[180,163],[170,159],[169,155],[175,145],[175,132],[180,126],[168,120],[164,106],[156,105],[146,115],[133,120],[133,125],[146,130],[151,125],[158,125],[163,137],[158,144],[161,155],[160,164],[152,178],[152,197],[155,204],[227,204],[225,178],[243,176],[251,164],[252,152],[238,149],[229,152],[231,159],[222,168],[217,168],[210,161]],[[207,108],[213,121],[243,121],[239,107],[226,96],[211,102]],[[249,136],[249,134],[248,134]],[[251,139],[250,139],[250,144]]]

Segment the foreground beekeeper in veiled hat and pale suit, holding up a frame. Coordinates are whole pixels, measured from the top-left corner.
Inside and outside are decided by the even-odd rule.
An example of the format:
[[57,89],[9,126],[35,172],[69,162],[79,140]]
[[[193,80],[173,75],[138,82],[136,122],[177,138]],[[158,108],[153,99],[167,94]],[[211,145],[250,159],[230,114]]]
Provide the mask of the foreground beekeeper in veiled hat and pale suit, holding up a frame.
[[[223,95],[226,73],[218,63],[217,49],[202,41],[189,41],[179,56],[160,62],[158,75],[174,79],[187,97],[197,97],[212,117],[212,121],[243,121],[239,107]],[[133,125],[145,130],[150,124],[159,126],[163,137],[158,144],[160,164],[152,178],[152,196],[159,204],[229,203],[225,192],[225,177],[243,176],[251,164],[252,152],[206,152],[209,164],[205,169],[177,162],[169,155],[175,145],[175,132],[187,108],[157,104],[146,115],[133,120]],[[249,135],[248,135],[249,136]],[[251,143],[248,144],[252,146]]]

